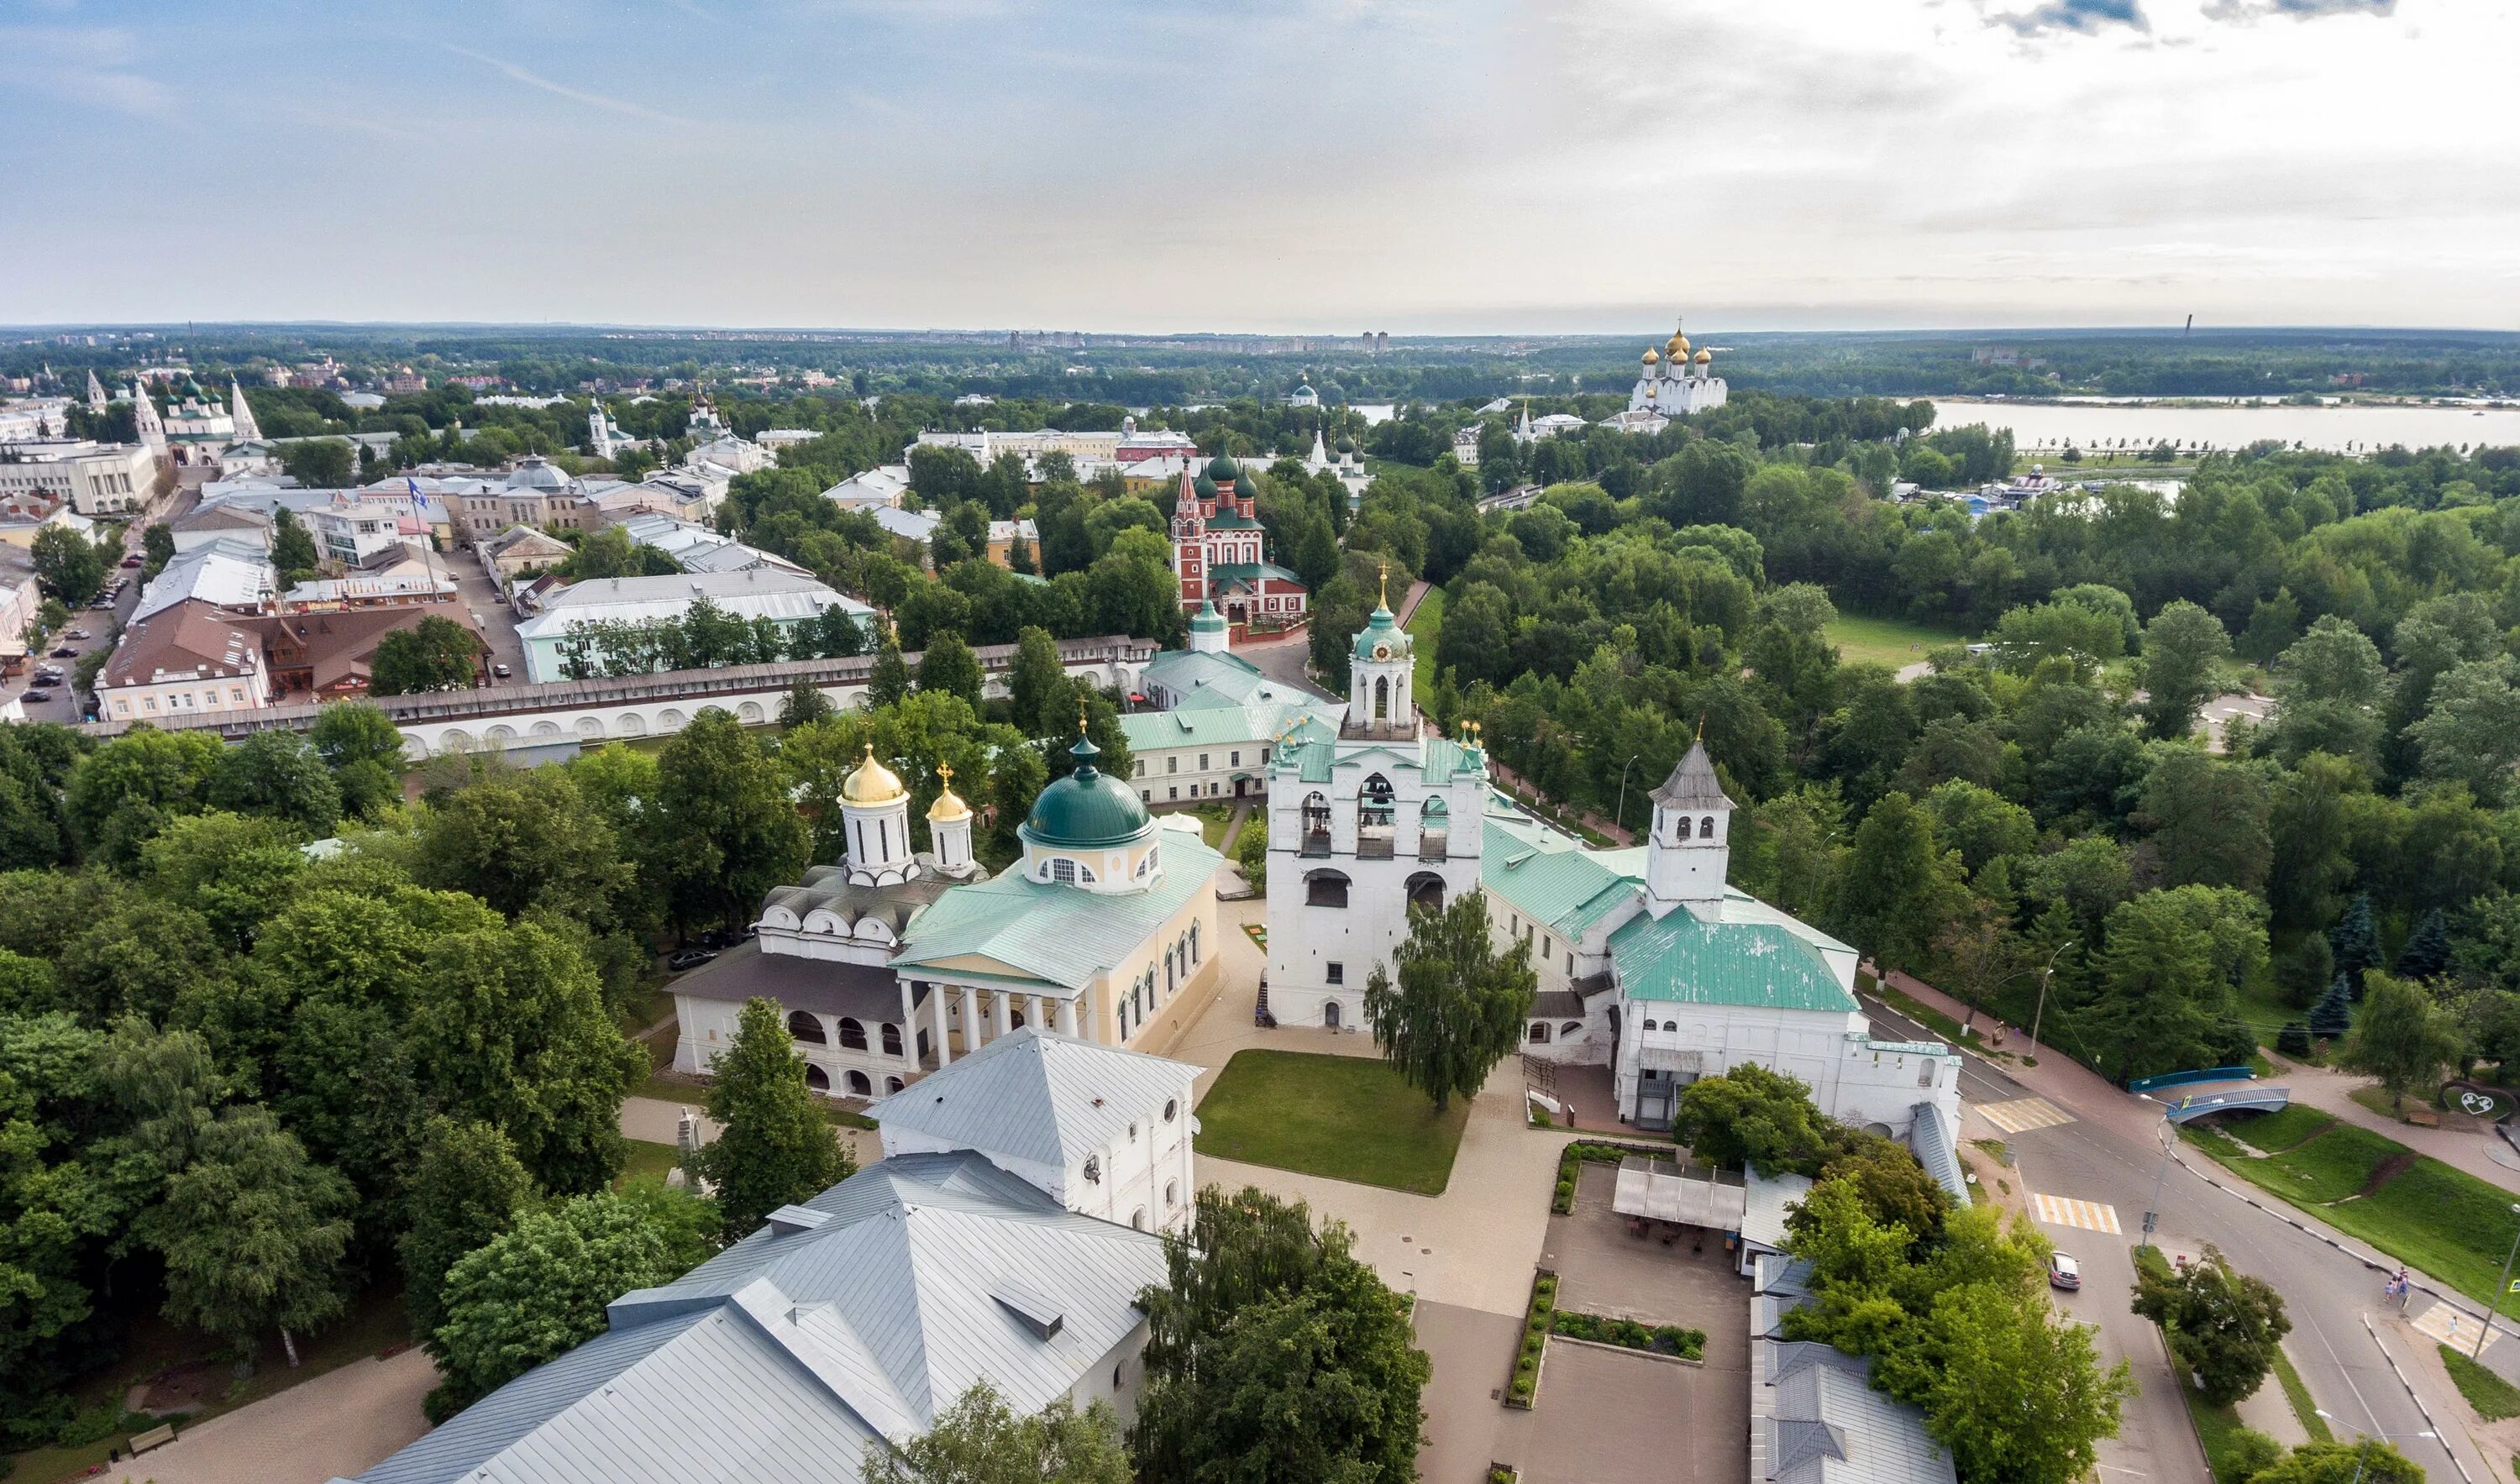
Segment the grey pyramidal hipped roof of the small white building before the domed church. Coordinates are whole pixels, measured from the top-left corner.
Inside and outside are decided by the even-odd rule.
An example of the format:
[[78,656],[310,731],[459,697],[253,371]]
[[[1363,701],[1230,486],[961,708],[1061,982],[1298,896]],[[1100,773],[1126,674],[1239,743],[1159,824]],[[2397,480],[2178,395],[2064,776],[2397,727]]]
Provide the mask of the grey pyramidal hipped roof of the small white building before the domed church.
[[[1197,1066],[1026,1025],[879,1099],[867,1116],[1011,1159],[1066,1167],[1184,1099]],[[1179,1109],[1187,1114],[1187,1106]]]

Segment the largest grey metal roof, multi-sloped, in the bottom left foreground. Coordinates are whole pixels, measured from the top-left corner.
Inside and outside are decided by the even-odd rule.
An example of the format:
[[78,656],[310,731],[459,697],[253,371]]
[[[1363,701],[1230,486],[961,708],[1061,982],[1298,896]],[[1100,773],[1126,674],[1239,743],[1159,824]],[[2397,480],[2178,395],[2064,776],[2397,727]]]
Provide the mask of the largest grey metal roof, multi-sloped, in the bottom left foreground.
[[1016,1411],[1066,1396],[1164,1277],[1152,1232],[968,1151],[885,1159],[801,1209],[827,1219],[771,1222],[622,1295],[610,1333],[360,1484],[857,1484],[879,1439],[925,1431],[975,1381]]

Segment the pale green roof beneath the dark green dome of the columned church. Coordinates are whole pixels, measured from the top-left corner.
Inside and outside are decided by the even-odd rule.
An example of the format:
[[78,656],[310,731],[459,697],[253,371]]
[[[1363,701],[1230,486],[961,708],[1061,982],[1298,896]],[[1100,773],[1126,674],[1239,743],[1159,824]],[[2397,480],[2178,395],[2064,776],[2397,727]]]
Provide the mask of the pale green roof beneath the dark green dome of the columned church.
[[910,942],[892,965],[910,970],[978,955],[1031,980],[1081,990],[1121,967],[1149,932],[1215,879],[1222,859],[1189,831],[1164,831],[1162,852],[1162,877],[1144,892],[1101,894],[1013,872],[948,892],[910,925]]

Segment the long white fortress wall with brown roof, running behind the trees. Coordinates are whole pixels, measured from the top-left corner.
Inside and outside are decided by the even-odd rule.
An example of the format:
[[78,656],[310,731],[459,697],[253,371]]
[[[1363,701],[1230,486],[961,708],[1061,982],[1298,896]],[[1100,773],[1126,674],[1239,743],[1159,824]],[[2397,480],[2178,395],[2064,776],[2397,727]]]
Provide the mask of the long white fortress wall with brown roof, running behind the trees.
[[[980,658],[985,693],[1005,695],[1005,678],[1016,668],[1016,645],[978,645],[973,653]],[[1139,675],[1154,655],[1152,640],[1126,635],[1058,640],[1058,663],[1066,665],[1068,675],[1121,693],[1137,690]],[[902,655],[902,660],[912,670],[920,665],[915,653]],[[711,705],[731,711],[746,726],[766,726],[779,718],[779,705],[799,680],[822,690],[832,705],[854,708],[864,703],[872,678],[874,655],[849,655],[844,660],[660,670],[615,680],[378,695],[373,705],[383,708],[396,731],[403,733],[403,756],[423,761],[444,753],[665,736],[683,731],[693,716]],[[300,703],[181,721],[164,716],[151,718],[149,726],[209,731],[224,741],[239,741],[257,731],[307,731],[318,713],[320,705]],[[83,731],[111,738],[129,728],[126,721],[91,721]]]

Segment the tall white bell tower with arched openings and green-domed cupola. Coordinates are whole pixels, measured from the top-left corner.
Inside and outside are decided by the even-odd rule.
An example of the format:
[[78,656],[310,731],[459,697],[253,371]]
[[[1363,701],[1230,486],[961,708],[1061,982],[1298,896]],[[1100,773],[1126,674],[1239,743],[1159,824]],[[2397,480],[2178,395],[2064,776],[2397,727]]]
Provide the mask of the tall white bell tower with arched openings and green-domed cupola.
[[[1336,736],[1290,738],[1268,768],[1268,1010],[1353,1030],[1366,978],[1409,910],[1479,889],[1487,753],[1419,733],[1409,630],[1378,605],[1356,635]],[[1457,826],[1459,821],[1459,826]]]

